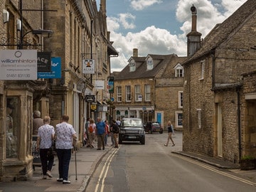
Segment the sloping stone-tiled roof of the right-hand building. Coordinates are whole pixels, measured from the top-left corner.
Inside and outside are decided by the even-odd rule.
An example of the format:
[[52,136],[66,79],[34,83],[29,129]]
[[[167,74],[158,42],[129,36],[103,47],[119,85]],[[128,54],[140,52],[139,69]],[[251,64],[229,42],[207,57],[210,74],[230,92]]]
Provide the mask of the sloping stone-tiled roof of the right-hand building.
[[228,17],[223,23],[217,24],[208,33],[206,38],[203,40],[203,46],[196,51],[194,55],[188,58],[183,65],[190,63],[192,60],[203,57],[220,46],[223,42],[227,41],[233,32],[240,28],[247,18],[250,18],[256,13],[256,0],[248,0],[240,6],[230,17]]

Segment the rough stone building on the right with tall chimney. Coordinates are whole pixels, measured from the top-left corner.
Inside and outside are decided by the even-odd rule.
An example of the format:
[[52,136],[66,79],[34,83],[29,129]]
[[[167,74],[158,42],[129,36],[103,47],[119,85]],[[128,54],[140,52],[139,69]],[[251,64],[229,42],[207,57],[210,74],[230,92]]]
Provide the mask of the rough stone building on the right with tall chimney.
[[[255,154],[256,1],[245,2],[201,41],[192,6],[184,66],[183,150],[238,163]],[[194,37],[193,37],[194,36]],[[200,38],[196,38],[199,40]],[[247,74],[247,75],[243,75]],[[255,80],[255,79],[254,79]],[[253,141],[253,142],[252,142]]]

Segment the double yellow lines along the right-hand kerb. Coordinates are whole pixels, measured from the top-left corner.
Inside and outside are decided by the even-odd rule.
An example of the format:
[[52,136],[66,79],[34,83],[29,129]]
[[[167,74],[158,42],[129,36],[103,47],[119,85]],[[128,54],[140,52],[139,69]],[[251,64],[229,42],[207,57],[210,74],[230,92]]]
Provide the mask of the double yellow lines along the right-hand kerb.
[[[174,154],[174,155],[175,155],[175,154]],[[233,175],[231,175],[231,174],[227,174],[227,173],[225,173],[225,172],[223,172],[223,171],[218,171],[217,169],[213,169],[212,167],[207,166],[207,165],[205,165],[205,164],[202,164],[202,163],[200,163],[200,162],[198,162],[198,161],[193,161],[193,160],[189,159],[188,157],[183,157],[183,156],[178,156],[178,155],[175,155],[175,156],[177,156],[178,158],[183,159],[183,160],[185,160],[185,161],[191,162],[192,164],[196,164],[196,165],[201,166],[201,167],[203,167],[203,168],[205,168],[205,169],[208,169],[208,170],[210,170],[210,171],[213,171],[213,172],[215,172],[215,173],[217,173],[217,174],[221,174],[221,175],[223,175],[223,176],[228,176],[229,178],[233,178],[233,179],[238,180],[238,181],[241,181],[241,182],[243,182],[243,183],[247,183],[247,184],[249,184],[249,185],[251,185],[251,186],[256,186],[256,183],[254,183],[254,182],[252,182],[252,181],[248,181],[248,180],[243,179],[243,178],[240,178],[240,177],[238,177],[238,176],[233,176]]]

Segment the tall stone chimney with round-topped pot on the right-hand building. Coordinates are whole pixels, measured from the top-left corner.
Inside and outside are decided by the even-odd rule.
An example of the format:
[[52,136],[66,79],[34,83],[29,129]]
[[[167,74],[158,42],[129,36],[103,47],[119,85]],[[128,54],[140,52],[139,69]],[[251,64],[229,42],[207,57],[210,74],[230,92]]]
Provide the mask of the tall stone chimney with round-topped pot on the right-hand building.
[[196,7],[193,5],[191,6],[191,12],[192,12],[192,27],[191,32],[187,35],[187,56],[191,56],[196,51],[201,48],[201,36],[202,34],[196,31],[196,20],[197,20],[197,11]]

